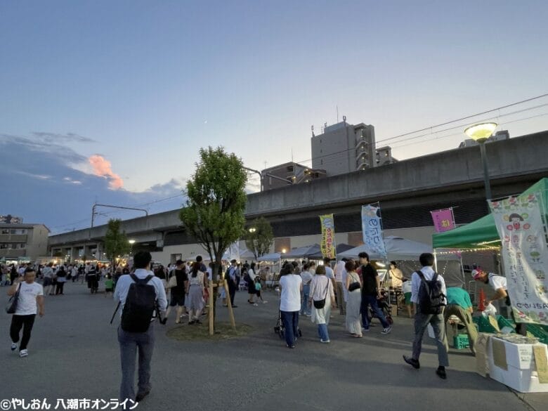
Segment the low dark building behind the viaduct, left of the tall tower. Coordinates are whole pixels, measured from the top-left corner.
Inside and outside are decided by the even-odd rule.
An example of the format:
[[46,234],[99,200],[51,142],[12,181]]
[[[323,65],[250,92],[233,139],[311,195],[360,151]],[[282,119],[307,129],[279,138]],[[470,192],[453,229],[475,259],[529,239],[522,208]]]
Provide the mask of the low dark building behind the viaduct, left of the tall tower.
[[303,164],[287,162],[261,171],[263,190],[285,187],[289,184],[310,183],[325,177],[325,170],[311,169]]

